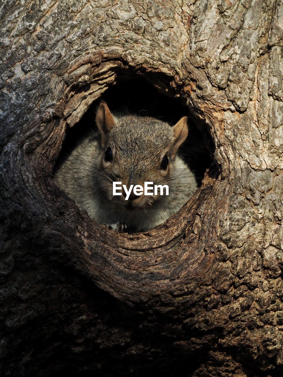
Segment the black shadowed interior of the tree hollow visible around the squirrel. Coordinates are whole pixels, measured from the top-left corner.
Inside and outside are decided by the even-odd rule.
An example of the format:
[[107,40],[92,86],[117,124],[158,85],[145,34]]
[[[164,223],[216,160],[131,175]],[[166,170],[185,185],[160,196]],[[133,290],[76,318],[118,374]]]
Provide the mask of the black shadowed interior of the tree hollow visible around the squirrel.
[[66,130],[65,141],[54,172],[68,158],[78,140],[90,130],[97,128],[95,115],[101,100],[107,103],[111,112],[151,116],[165,121],[171,126],[174,126],[182,116],[188,116],[188,137],[179,148],[178,153],[194,172],[198,187],[201,185],[206,169],[209,168],[210,175],[217,176],[214,169],[215,164],[212,164],[214,147],[208,126],[191,114],[188,107],[183,106],[180,98],[170,98],[161,94],[153,85],[143,79],[120,81],[110,87],[91,104],[74,127]]

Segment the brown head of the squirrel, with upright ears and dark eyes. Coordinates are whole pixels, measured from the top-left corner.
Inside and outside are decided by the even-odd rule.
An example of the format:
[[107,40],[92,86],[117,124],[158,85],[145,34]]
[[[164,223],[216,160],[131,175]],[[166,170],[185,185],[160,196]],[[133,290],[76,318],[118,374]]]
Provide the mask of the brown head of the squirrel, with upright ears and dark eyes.
[[131,193],[125,200],[113,196],[113,181],[130,185],[144,182],[169,186],[174,171],[177,150],[188,135],[187,117],[181,118],[174,127],[148,116],[113,116],[105,102],[101,102],[95,121],[101,136],[100,188],[115,205],[146,209],[161,200],[160,195],[140,196]]

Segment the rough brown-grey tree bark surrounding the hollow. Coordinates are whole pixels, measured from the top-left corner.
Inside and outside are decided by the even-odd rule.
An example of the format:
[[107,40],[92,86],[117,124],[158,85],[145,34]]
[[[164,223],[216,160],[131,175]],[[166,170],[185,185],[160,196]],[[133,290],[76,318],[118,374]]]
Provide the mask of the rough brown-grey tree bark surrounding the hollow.
[[[281,0],[1,3],[1,375],[283,372]],[[215,143],[196,198],[140,234],[52,182],[117,80],[181,97]]]

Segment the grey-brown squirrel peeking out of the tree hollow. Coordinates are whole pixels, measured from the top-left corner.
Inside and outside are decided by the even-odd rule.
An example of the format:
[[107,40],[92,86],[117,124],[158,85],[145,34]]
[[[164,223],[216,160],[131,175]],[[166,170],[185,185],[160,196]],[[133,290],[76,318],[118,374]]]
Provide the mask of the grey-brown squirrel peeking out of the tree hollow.
[[[101,102],[91,131],[54,173],[54,183],[99,224],[116,232],[148,231],[175,214],[194,194],[194,173],[178,155],[188,135],[187,117],[175,126],[149,116],[112,115]],[[113,195],[113,182],[125,188],[153,182],[169,195]],[[122,186],[121,185],[121,186]]]

